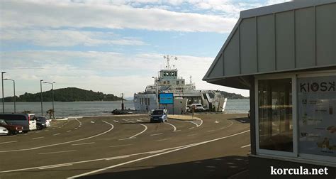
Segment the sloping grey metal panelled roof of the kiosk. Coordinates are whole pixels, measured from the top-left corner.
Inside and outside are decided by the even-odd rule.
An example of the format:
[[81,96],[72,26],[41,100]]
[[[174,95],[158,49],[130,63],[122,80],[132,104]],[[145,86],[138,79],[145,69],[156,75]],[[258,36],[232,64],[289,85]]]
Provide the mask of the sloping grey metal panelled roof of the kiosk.
[[240,12],[203,80],[248,89],[244,81],[250,75],[317,67],[336,67],[336,0],[299,0]]

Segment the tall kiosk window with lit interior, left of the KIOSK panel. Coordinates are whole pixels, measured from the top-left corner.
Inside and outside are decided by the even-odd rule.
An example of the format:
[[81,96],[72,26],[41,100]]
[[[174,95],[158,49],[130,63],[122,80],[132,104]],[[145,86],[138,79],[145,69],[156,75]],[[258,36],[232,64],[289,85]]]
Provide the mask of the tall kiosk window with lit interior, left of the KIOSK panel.
[[259,149],[293,152],[291,79],[258,81]]

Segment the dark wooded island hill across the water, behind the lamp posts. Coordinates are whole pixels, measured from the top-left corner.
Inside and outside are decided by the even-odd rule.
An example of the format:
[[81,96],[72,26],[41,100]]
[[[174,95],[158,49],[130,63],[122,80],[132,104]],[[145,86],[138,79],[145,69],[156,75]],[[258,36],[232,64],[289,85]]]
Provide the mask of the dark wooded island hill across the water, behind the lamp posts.
[[[43,102],[52,101],[52,91],[42,92]],[[28,93],[16,97],[16,102],[40,102],[41,94]],[[114,94],[103,94],[103,92],[93,92],[92,90],[79,89],[77,87],[67,87],[54,89],[55,102],[81,102],[81,101],[118,101],[121,97]],[[124,99],[125,100],[125,99]],[[14,97],[5,97],[5,102],[13,102]]]

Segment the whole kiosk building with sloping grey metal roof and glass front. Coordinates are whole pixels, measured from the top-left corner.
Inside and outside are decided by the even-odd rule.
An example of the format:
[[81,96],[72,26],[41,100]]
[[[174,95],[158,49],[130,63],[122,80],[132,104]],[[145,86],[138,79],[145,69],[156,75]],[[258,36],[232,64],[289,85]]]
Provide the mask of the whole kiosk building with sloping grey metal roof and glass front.
[[336,0],[240,12],[203,80],[250,90],[250,178],[274,168],[336,175]]

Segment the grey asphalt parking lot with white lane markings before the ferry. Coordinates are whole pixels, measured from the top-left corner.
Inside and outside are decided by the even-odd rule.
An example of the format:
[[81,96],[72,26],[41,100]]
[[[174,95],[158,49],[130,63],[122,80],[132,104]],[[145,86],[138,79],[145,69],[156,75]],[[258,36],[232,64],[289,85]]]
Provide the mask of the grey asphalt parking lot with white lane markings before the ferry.
[[197,116],[86,117],[0,136],[0,178],[229,178],[247,170],[247,114]]

